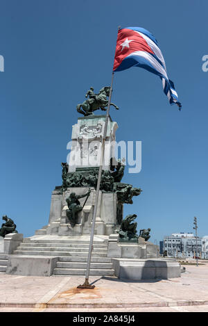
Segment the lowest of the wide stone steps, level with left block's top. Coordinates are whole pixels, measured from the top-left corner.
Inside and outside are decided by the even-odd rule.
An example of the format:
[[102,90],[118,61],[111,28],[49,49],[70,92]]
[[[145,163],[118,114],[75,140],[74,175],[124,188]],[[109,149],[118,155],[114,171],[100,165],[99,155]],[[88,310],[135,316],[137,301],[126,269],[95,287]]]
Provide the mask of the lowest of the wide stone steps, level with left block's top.
[[[64,252],[64,251],[42,251],[40,250],[31,251],[31,250],[15,250],[13,254],[26,254],[28,256],[38,255],[38,256],[88,256],[88,252]],[[107,254],[103,252],[92,252],[92,256],[96,257],[106,257]]]

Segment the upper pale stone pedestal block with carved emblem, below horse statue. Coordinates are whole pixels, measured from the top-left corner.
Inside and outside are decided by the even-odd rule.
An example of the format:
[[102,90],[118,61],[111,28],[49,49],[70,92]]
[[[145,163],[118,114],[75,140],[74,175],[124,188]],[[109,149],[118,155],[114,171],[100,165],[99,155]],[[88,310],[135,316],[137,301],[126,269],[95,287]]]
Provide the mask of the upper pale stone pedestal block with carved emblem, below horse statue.
[[[110,169],[110,158],[114,153],[115,134],[118,125],[108,118],[105,139],[105,157],[103,170]],[[85,168],[99,168],[102,152],[102,140],[105,129],[105,115],[89,115],[78,117],[78,123],[73,124],[71,134],[71,153],[69,157],[70,173],[82,171]]]

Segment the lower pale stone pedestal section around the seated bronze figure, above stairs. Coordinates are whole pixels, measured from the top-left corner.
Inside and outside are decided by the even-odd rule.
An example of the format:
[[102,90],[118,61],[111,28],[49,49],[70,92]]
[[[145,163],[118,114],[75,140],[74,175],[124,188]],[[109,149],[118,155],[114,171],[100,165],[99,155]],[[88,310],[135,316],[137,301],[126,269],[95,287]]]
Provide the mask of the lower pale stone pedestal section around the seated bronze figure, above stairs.
[[[78,221],[74,227],[71,227],[69,218],[67,218],[66,199],[71,193],[84,195],[89,188],[74,187],[67,188],[62,193],[60,189],[53,190],[51,197],[51,211],[49,216],[49,225],[42,231],[38,230],[36,234],[56,234],[59,236],[81,236],[90,234],[92,228],[92,214],[95,204],[95,188],[91,188],[91,193],[83,207],[78,213]],[[83,206],[85,197],[80,199],[80,205]],[[105,193],[100,190],[98,197],[98,209],[95,223],[95,234],[107,235],[112,234],[117,226],[116,220],[117,197],[116,193]]]

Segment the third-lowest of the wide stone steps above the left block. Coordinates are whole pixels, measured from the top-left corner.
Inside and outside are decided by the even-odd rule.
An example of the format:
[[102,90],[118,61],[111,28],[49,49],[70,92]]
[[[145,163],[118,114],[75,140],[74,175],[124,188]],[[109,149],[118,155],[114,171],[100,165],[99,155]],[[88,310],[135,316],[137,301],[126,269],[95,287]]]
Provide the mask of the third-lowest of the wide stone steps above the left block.
[[[21,243],[19,247],[80,247],[89,249],[89,243]],[[107,249],[107,245],[93,245],[94,248]]]

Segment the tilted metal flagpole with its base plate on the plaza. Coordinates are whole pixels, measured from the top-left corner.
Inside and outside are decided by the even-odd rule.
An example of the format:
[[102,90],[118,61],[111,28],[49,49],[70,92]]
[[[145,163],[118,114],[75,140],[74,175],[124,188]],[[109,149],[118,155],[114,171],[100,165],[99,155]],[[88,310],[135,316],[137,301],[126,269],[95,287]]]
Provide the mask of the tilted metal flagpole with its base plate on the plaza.
[[107,104],[107,112],[105,116],[105,129],[103,134],[103,141],[102,141],[102,148],[101,148],[101,161],[100,161],[100,167],[98,172],[98,183],[96,188],[96,197],[95,197],[95,205],[94,205],[94,212],[92,217],[92,230],[91,230],[91,236],[89,241],[89,253],[87,258],[87,270],[85,275],[85,283],[83,285],[79,285],[78,288],[94,288],[94,285],[89,284],[89,268],[91,263],[91,256],[92,256],[92,250],[93,250],[93,238],[94,238],[94,227],[95,227],[95,221],[96,221],[96,213],[98,209],[98,197],[99,197],[99,190],[101,185],[101,174],[103,170],[103,159],[105,154],[105,140],[107,135],[107,122],[109,118],[109,112],[110,112],[110,101],[111,101],[111,95],[112,95],[112,84],[114,81],[114,72],[112,72],[112,79],[111,79],[111,85],[110,85],[110,95],[108,98],[108,104]]

